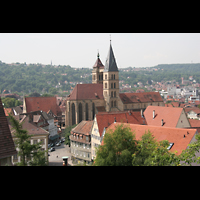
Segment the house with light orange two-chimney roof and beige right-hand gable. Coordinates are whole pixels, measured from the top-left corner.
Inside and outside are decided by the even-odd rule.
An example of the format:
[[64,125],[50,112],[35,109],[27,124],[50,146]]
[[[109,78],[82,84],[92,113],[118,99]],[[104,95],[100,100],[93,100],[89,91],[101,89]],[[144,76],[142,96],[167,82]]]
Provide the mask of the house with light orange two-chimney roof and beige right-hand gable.
[[183,108],[148,106],[144,111],[148,125],[173,128],[190,127],[187,115]]

